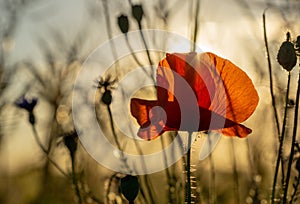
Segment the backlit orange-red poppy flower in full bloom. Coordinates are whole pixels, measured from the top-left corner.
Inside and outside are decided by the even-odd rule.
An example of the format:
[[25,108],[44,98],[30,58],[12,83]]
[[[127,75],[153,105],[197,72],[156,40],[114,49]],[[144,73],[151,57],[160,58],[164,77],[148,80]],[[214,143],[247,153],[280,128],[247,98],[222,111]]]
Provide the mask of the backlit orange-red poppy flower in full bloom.
[[159,62],[156,80],[157,100],[131,99],[131,114],[141,126],[139,137],[152,140],[179,130],[238,137],[252,132],[240,123],[254,112],[258,94],[232,62],[213,53],[167,54]]

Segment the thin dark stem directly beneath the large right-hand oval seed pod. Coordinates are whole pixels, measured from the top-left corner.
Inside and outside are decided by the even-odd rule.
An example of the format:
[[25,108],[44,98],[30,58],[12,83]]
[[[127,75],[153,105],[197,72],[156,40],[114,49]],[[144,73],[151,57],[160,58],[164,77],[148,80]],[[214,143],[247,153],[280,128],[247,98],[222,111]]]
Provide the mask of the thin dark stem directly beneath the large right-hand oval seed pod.
[[[274,203],[274,199],[275,199],[275,191],[276,191],[276,183],[277,183],[279,165],[280,165],[280,160],[282,158],[282,148],[283,148],[283,142],[284,142],[284,134],[285,134],[285,128],[286,128],[286,119],[287,119],[287,109],[288,109],[288,103],[289,103],[288,100],[289,100],[289,92],[290,92],[290,81],[291,81],[291,73],[289,72],[288,82],[287,82],[287,90],[286,90],[286,95],[285,95],[284,117],[283,117],[283,122],[282,122],[282,129],[281,129],[277,161],[276,161],[276,166],[275,166],[275,174],[274,174],[274,179],[273,179],[272,204]],[[281,162],[281,165],[283,166],[283,162]],[[284,175],[282,175],[282,177],[284,177]],[[283,188],[285,189],[284,186],[283,186]]]

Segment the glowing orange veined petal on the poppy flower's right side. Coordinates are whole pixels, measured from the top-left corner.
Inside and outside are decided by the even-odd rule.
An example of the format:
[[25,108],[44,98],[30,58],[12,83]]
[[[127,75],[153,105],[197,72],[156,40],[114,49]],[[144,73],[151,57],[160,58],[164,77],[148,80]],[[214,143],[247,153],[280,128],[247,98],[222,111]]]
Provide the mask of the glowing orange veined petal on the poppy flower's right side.
[[203,54],[202,61],[211,63],[210,69],[216,69],[222,79],[216,83],[218,95],[209,109],[237,123],[248,119],[259,101],[251,79],[232,62],[213,53]]

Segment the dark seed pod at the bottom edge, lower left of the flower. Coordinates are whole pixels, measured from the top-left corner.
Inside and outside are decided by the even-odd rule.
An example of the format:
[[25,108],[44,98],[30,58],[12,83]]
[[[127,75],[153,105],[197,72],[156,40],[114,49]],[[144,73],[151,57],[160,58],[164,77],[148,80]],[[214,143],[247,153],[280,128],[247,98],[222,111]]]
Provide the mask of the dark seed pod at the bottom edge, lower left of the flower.
[[140,190],[138,178],[131,175],[125,176],[121,179],[120,190],[129,203],[132,203]]

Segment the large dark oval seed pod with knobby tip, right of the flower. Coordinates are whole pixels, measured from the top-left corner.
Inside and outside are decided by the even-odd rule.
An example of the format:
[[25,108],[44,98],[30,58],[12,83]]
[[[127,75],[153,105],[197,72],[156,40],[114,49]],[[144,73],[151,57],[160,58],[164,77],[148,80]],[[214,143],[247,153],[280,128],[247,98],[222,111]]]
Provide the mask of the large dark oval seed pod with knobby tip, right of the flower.
[[291,71],[296,65],[297,56],[293,43],[289,41],[289,32],[287,33],[287,40],[283,42],[277,54],[278,63],[287,71]]

